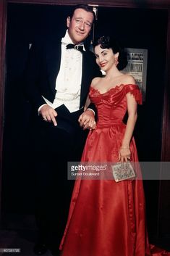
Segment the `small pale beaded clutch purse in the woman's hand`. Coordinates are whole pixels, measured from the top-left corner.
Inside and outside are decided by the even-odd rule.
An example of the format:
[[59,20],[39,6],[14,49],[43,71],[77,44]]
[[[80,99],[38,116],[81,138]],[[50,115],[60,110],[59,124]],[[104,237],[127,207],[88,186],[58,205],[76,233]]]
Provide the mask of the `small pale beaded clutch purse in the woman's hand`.
[[117,162],[111,168],[116,182],[135,178],[135,170],[130,162]]

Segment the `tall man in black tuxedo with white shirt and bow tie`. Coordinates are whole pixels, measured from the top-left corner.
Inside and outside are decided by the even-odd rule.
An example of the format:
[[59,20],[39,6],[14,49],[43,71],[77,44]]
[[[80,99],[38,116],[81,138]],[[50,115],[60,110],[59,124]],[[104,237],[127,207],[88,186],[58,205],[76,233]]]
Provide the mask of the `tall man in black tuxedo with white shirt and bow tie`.
[[67,17],[63,38],[30,49],[26,94],[38,117],[34,163],[39,231],[36,255],[43,255],[47,249],[58,255],[73,186],[67,180],[67,162],[80,160],[87,135],[84,130],[91,128],[94,117],[91,109],[83,112],[90,82],[101,75],[93,53],[83,44],[94,17],[91,7],[77,6]]

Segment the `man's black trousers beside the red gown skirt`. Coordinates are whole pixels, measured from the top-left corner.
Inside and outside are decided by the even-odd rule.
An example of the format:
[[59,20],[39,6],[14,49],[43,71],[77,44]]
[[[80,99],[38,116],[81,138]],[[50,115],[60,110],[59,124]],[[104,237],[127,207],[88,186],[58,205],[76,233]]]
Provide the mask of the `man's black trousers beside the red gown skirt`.
[[35,136],[35,218],[39,239],[58,249],[67,222],[75,181],[67,179],[67,162],[80,161],[87,131],[77,122],[82,110],[61,107],[58,125],[38,118]]

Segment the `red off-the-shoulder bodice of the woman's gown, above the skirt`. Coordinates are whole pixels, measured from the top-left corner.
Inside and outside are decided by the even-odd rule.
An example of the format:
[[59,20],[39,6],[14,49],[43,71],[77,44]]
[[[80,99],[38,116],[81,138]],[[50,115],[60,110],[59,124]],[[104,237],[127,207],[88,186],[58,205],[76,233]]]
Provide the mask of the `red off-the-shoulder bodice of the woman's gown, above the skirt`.
[[98,111],[98,127],[122,123],[127,112],[127,93],[133,94],[138,104],[142,103],[140,90],[135,84],[121,84],[103,94],[90,86],[89,97]]

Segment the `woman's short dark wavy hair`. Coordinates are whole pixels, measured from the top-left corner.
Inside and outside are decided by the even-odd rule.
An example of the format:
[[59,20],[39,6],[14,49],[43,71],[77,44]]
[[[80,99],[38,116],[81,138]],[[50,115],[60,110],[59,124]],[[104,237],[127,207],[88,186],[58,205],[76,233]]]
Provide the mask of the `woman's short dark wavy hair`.
[[116,40],[116,38],[112,38],[111,36],[100,36],[99,38],[96,38],[93,43],[93,48],[95,49],[95,46],[100,45],[102,49],[112,49],[114,54],[119,52],[118,57],[118,70],[123,70],[124,67],[127,66],[127,52],[124,50],[124,47],[121,46],[119,41]]

